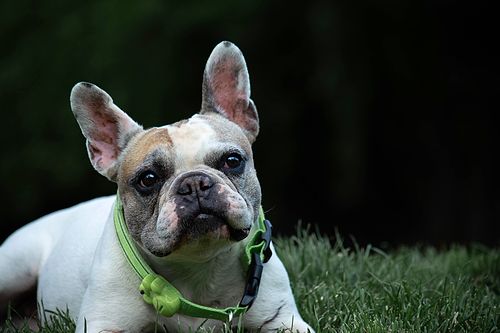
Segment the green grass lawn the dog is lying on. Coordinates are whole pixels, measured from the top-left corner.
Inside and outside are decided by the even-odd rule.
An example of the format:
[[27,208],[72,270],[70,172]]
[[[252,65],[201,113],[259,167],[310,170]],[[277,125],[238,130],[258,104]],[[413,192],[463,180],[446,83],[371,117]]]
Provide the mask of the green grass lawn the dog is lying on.
[[[275,240],[300,312],[317,332],[500,332],[500,249],[386,253],[331,244],[304,230]],[[40,330],[73,331],[62,312]],[[7,320],[0,332],[32,331]]]

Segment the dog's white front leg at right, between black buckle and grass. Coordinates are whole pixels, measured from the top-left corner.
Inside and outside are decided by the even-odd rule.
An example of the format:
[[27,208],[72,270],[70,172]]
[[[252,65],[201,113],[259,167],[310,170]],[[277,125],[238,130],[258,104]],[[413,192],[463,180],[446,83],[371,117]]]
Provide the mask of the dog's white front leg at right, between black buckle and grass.
[[[272,244],[271,248],[276,253]],[[288,273],[276,254],[264,264],[259,293],[245,315],[244,324],[245,328],[260,332],[285,329],[293,333],[314,333],[297,310]]]

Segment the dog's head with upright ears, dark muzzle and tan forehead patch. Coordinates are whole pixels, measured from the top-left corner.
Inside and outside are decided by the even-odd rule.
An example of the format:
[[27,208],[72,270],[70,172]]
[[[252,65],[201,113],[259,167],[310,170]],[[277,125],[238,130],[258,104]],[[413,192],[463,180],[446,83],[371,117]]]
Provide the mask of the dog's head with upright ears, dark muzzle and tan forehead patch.
[[92,165],[118,184],[132,237],[157,257],[210,256],[244,239],[258,218],[251,144],[259,121],[235,45],[213,50],[202,95],[198,114],[144,130],[97,86],[78,83],[71,91]]

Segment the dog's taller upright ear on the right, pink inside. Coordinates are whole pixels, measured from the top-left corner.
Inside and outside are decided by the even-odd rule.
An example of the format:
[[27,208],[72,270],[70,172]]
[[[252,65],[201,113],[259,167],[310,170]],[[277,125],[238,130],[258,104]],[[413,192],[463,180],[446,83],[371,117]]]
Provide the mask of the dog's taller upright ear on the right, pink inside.
[[203,73],[201,113],[217,112],[240,126],[250,143],[259,133],[259,116],[250,99],[250,79],[241,51],[231,42],[219,43]]

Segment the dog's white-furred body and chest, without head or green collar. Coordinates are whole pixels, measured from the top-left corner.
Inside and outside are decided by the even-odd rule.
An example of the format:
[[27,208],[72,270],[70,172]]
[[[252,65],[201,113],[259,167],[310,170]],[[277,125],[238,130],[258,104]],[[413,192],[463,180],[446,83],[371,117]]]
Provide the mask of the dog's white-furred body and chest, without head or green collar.
[[[11,235],[0,247],[0,301],[5,302],[7,291],[22,291],[38,276],[38,301],[49,310],[68,308],[77,322],[76,332],[83,332],[85,322],[89,333],[152,329],[157,316],[142,300],[140,279],[116,238],[113,203],[114,197],[88,201],[45,216]],[[244,285],[241,246],[236,244],[209,262],[190,262],[173,255],[152,265],[188,299],[212,306],[236,305]],[[265,264],[259,296],[244,316],[245,327],[261,327],[280,307],[279,315],[263,331],[290,327],[293,321],[294,330],[312,332],[297,311],[287,273],[274,254]],[[177,315],[159,318],[159,325],[169,331],[196,329],[203,322]],[[217,321],[204,324],[221,325]]]

